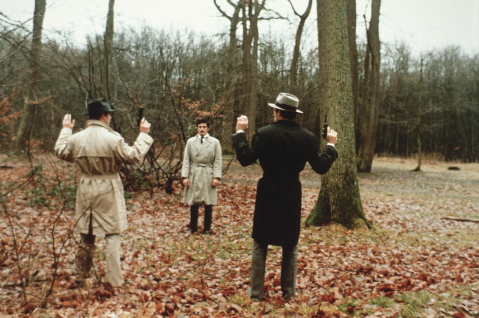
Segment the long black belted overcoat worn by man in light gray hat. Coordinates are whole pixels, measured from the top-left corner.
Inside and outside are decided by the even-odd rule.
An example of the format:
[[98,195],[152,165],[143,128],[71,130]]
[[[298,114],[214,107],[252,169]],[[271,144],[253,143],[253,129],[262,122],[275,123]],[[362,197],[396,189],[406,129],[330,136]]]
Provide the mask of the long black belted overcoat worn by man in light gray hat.
[[263,176],[258,181],[252,238],[260,244],[296,246],[301,226],[299,172],[306,161],[319,174],[326,173],[338,157],[326,146],[319,155],[316,136],[295,121],[279,120],[258,130],[251,139],[233,135],[239,163],[246,167],[259,159]]

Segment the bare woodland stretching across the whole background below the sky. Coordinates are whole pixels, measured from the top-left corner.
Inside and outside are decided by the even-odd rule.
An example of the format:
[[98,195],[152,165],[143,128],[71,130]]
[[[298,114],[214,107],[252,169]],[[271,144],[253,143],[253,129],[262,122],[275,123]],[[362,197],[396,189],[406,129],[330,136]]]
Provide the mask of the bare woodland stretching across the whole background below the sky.
[[[0,151],[18,153],[33,147],[50,151],[63,115],[71,113],[80,128],[87,119],[86,102],[98,97],[114,103],[118,111],[112,126],[130,142],[137,134],[137,110],[145,107],[155,138],[151,169],[156,169],[158,182],[168,174],[175,177],[181,165],[177,154],[194,135],[197,118],[211,119],[211,133],[230,152],[235,118],[246,114],[256,128],[270,124],[272,110],[265,105],[280,91],[299,97],[305,114],[297,120],[319,136],[325,113],[319,107],[318,48],[300,48],[311,5],[303,14],[294,11],[299,27],[296,43],[290,43],[258,30],[258,21],[283,18],[267,10],[264,0],[228,3],[233,13],[216,4],[231,23],[229,34],[205,36],[148,26],[114,32],[110,0],[105,33],[89,36],[84,47],[68,38],[42,40],[38,24],[43,23],[44,0],[43,9],[42,0],[35,1],[33,32],[3,19]],[[372,20],[371,28],[373,24]],[[413,57],[404,43],[382,44],[379,91],[374,97],[366,87],[374,76],[371,47],[357,43],[353,97],[358,127],[363,106],[372,98],[378,100],[374,134],[367,135],[375,136],[374,152],[410,157],[420,141],[423,153],[439,159],[478,161],[479,55],[470,57],[458,47],[447,47]],[[358,129],[356,155],[361,151]]]

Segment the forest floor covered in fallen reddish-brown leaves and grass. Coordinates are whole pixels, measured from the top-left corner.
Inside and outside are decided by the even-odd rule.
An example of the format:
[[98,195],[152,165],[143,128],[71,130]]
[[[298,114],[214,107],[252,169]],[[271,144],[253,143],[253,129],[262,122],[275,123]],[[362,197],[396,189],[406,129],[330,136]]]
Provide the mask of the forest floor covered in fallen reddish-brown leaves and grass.
[[[372,172],[359,174],[373,229],[302,228],[297,295],[288,302],[280,290],[281,248],[274,246],[264,299],[246,295],[258,164],[231,164],[213,209],[212,235],[187,233],[189,208],[181,203],[179,183],[174,194],[126,193],[121,288],[103,284],[103,238],[97,238],[93,277],[81,288],[74,284],[78,235],[71,228],[79,175],[73,165],[35,159],[33,180],[27,160],[0,157],[0,165],[7,166],[0,169],[2,317],[479,315],[479,223],[442,219],[479,219],[477,163],[424,160],[423,171],[411,172],[412,159],[375,158]],[[452,165],[460,170],[447,170]],[[300,178],[304,220],[320,177],[307,168]]]

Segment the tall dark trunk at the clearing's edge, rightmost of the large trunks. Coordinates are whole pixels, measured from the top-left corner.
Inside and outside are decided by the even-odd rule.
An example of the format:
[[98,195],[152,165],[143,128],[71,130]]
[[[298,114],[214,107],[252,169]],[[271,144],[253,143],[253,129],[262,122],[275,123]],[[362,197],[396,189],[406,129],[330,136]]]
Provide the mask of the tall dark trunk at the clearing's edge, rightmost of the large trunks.
[[379,42],[380,6],[381,0],[372,1],[371,21],[369,23],[369,29],[366,32],[367,49],[365,61],[369,58],[369,51],[371,55],[371,77],[367,80],[365,76],[365,91],[367,93],[363,95],[363,109],[360,111],[362,114],[365,114],[365,120],[361,125],[361,144],[356,159],[359,172],[371,172],[374,148],[376,147],[377,121],[379,116],[379,68],[381,66]]

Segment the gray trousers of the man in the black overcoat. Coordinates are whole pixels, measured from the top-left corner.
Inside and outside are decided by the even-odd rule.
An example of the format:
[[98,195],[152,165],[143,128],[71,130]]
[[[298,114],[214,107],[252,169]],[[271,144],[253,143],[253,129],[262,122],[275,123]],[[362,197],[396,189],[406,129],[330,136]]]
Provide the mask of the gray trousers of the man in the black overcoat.
[[[264,287],[264,268],[268,245],[253,241],[253,259],[251,261],[251,298],[261,299]],[[288,300],[296,295],[298,247],[284,248],[281,261],[281,291]]]

